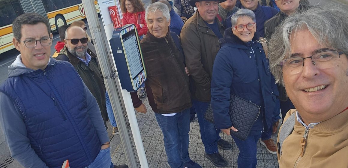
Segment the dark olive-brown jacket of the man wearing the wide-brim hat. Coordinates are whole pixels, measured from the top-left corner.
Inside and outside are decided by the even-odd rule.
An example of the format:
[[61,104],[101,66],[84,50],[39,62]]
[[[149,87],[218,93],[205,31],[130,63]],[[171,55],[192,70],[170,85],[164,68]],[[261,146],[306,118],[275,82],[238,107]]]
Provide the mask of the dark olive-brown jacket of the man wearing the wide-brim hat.
[[[223,35],[224,27],[215,18]],[[202,102],[210,102],[210,83],[213,74],[213,63],[220,49],[219,38],[214,34],[199,15],[190,17],[180,33],[182,48],[186,58],[186,66],[195,81],[192,84],[192,98]]]

